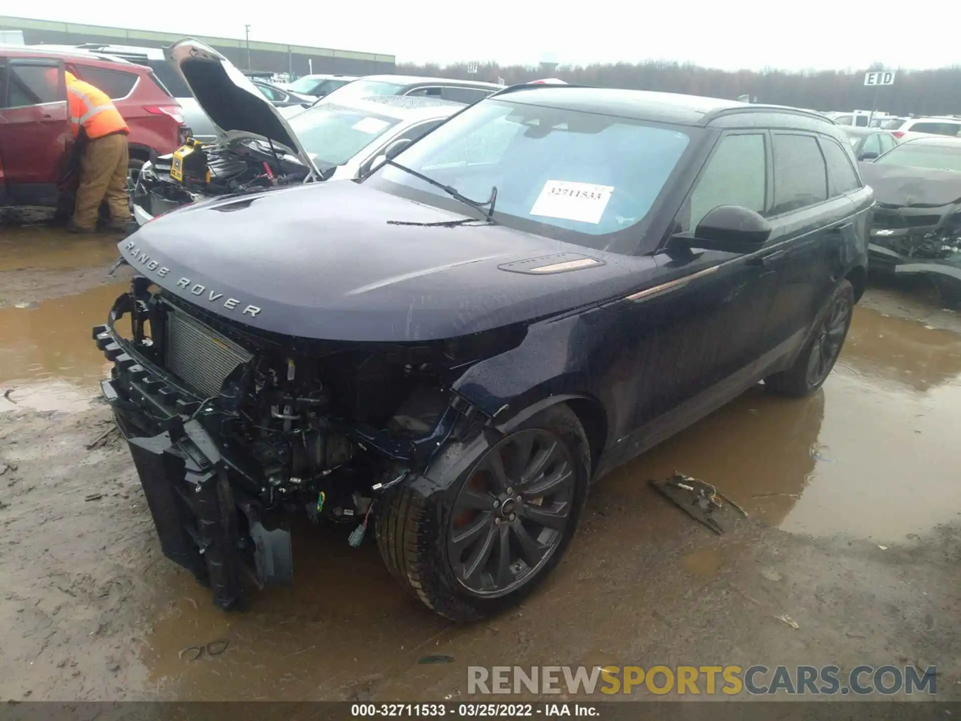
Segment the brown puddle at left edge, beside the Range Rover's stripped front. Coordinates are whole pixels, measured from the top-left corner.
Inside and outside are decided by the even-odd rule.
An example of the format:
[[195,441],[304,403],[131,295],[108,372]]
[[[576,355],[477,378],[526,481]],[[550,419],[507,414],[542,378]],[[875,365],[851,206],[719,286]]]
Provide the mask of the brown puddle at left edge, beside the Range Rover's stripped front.
[[0,396],[0,412],[86,408],[109,369],[90,329],[104,322],[126,286],[97,286],[21,308],[0,308],[0,389],[6,394]]

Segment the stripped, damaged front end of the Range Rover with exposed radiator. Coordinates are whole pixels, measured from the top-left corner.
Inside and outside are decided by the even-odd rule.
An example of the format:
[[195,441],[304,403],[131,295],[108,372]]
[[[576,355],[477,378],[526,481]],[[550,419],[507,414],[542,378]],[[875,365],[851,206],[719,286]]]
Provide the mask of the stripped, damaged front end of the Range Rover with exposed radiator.
[[522,336],[378,346],[253,334],[138,277],[93,337],[164,555],[233,609],[247,578],[290,581],[291,513],[343,524],[358,544],[382,492],[479,421],[452,379]]

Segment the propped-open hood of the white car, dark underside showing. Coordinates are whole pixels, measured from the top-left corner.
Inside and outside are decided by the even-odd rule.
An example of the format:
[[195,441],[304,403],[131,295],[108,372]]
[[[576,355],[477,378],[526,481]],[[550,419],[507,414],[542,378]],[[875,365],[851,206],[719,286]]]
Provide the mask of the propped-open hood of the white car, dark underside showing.
[[[164,48],[163,55],[183,76],[197,103],[208,114],[221,142],[253,139],[283,145],[298,161],[317,173],[283,115],[234,63],[192,37]],[[278,152],[283,150],[278,148]]]

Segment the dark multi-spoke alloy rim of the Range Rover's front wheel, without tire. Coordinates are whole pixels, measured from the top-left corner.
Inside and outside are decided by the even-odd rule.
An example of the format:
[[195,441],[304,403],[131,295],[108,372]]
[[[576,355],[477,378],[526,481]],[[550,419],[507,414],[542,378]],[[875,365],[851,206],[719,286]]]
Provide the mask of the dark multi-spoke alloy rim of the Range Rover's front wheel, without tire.
[[457,581],[487,596],[530,581],[564,537],[575,486],[570,451],[549,431],[520,431],[487,451],[451,513],[448,560]]

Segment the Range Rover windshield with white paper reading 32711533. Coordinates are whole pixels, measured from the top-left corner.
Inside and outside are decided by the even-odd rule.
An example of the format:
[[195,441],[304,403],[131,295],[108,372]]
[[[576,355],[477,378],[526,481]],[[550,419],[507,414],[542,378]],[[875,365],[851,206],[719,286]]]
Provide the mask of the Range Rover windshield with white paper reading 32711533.
[[[480,202],[496,186],[493,217],[505,225],[611,249],[620,232],[645,219],[693,132],[592,112],[483,100],[421,138],[396,161]],[[452,206],[443,190],[400,168],[385,165],[375,178],[388,191],[463,209]],[[631,230],[629,235],[636,247],[638,234]]]

